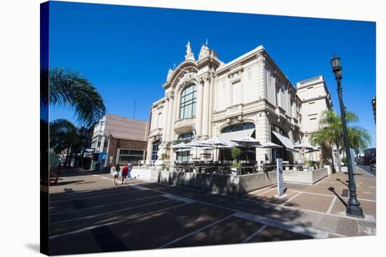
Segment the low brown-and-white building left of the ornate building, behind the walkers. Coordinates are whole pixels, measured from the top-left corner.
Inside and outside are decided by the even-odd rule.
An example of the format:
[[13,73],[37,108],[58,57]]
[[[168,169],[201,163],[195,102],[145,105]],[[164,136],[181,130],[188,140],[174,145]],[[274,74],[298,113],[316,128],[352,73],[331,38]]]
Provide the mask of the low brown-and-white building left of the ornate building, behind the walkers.
[[94,127],[91,169],[145,160],[148,122],[107,114]]

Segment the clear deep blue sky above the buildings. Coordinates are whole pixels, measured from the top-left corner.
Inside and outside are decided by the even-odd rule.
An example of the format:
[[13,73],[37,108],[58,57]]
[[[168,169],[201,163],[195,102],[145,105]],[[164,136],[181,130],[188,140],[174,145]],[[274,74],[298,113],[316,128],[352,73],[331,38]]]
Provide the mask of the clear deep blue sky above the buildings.
[[[229,62],[257,46],[265,49],[295,85],[323,75],[339,113],[330,60],[342,58],[343,99],[373,137],[375,22],[292,18],[208,11],[51,2],[50,66],[81,72],[100,91],[108,113],[147,120],[173,63],[184,60],[187,40],[195,57],[209,48]],[[50,119],[74,119],[51,107]]]

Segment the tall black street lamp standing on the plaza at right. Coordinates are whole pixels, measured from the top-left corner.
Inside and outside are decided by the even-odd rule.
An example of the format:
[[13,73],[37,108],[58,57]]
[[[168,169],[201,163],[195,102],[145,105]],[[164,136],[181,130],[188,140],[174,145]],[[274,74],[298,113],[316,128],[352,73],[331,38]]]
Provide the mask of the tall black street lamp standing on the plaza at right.
[[[335,80],[338,84],[338,97],[339,97],[339,105],[340,105],[340,117],[342,118],[342,128],[343,128],[343,139],[345,141],[345,149],[346,149],[346,158],[347,158],[347,170],[349,174],[349,200],[346,207],[346,214],[347,216],[352,216],[356,218],[364,218],[363,210],[361,207],[359,207],[360,203],[357,199],[357,189],[355,188],[355,181],[354,181],[354,171],[352,170],[352,163],[351,163],[351,153],[350,153],[350,146],[349,146],[349,139],[348,139],[348,133],[347,133],[347,124],[346,124],[346,111],[345,111],[345,105],[343,104],[342,99],[342,85],[340,84],[340,81],[342,80],[342,70],[343,68],[340,66],[340,57],[336,56],[334,54],[333,58],[331,59],[331,67],[333,67],[333,73],[335,74]],[[338,160],[340,161],[340,160]]]

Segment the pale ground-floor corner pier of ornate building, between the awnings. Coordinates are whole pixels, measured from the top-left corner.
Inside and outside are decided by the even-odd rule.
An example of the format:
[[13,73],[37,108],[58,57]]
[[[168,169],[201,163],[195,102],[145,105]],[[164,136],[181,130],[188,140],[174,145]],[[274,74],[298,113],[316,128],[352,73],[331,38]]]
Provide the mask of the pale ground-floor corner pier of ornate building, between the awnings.
[[[265,111],[261,111],[256,116],[256,139],[260,141],[260,144],[270,141],[271,127],[269,125],[269,119]],[[270,153],[269,149],[256,148],[256,160],[258,165],[261,161],[269,160]]]

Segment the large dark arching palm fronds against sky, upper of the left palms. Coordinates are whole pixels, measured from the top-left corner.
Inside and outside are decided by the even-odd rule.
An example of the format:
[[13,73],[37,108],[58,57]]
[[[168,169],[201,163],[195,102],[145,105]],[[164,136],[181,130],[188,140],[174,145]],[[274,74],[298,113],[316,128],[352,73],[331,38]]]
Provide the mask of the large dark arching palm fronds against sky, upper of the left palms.
[[106,107],[96,88],[79,72],[62,67],[41,69],[40,100],[48,104],[74,108],[77,121],[91,126],[105,116]]

